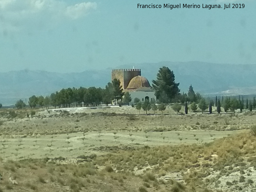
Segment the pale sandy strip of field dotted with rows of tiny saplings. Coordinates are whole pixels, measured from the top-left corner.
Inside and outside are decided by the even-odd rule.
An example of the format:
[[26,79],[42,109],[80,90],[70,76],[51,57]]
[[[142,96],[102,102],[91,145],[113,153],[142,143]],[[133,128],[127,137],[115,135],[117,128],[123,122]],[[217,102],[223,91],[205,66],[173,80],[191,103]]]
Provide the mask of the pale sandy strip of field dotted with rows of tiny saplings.
[[[158,146],[211,142],[241,131],[171,131],[171,132],[82,132],[56,135],[34,135],[1,140],[1,157],[6,159],[59,157],[76,158],[83,154],[104,154],[105,147]],[[115,133],[115,134],[114,134]],[[130,136],[129,134],[132,134]],[[194,136],[195,135],[195,136]],[[84,138],[84,140],[83,140]],[[116,139],[115,139],[116,138]],[[198,140],[197,140],[198,139]]]

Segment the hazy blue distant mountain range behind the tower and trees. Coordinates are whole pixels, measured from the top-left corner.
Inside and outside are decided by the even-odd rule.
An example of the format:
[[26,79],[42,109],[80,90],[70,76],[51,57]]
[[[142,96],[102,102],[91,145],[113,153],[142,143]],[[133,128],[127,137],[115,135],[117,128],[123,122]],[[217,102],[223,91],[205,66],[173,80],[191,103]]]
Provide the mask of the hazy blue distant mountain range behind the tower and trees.
[[[181,92],[188,92],[190,84],[195,92],[208,94],[256,93],[256,65],[216,64],[205,62],[170,62],[127,64],[117,68],[140,68],[141,75],[151,83],[160,67],[173,70]],[[10,71],[0,73],[0,103],[14,104],[32,95],[49,95],[67,87],[105,87],[111,80],[111,70],[86,70],[78,73],[47,71]]]

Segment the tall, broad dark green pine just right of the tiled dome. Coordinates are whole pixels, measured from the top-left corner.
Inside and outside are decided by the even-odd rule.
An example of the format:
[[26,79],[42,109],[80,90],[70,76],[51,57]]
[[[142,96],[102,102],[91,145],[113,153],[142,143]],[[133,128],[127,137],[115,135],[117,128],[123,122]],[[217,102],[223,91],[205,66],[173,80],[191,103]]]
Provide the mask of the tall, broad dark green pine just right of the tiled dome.
[[168,67],[160,68],[156,75],[156,80],[153,80],[152,82],[157,99],[161,97],[163,91],[165,91],[169,100],[173,99],[180,92],[180,89],[178,88],[180,83],[175,83],[173,71]]

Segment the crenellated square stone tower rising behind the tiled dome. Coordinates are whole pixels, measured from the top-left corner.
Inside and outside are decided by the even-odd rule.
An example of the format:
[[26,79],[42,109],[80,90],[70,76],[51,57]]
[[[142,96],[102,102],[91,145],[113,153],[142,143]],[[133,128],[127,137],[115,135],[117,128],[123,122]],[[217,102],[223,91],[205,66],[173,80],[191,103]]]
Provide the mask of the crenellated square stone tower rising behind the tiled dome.
[[123,89],[126,89],[131,79],[135,76],[141,76],[140,69],[113,69],[111,80],[119,79]]

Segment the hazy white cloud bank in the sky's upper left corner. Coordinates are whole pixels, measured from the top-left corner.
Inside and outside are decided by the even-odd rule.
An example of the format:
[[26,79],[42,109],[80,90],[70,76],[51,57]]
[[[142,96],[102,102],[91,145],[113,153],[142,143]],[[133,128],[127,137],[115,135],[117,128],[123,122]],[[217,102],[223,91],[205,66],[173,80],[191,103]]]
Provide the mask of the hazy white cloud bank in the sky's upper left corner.
[[96,8],[93,2],[70,5],[60,0],[0,0],[0,29],[15,30],[65,18],[76,20]]

